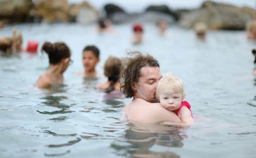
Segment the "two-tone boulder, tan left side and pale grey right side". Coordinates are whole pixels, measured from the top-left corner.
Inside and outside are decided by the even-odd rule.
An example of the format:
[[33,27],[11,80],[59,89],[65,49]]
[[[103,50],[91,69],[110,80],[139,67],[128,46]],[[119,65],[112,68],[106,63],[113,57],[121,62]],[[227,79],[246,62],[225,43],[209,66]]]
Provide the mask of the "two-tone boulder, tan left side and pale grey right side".
[[69,10],[70,21],[89,24],[97,22],[99,12],[92,7],[88,2],[84,1],[70,7]]

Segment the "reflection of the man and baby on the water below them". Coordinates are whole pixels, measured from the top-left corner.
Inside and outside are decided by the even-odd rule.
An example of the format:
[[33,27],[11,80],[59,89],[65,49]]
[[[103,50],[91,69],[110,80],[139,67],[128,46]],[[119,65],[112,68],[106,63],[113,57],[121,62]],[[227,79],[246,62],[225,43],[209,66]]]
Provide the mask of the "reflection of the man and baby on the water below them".
[[165,127],[159,123],[128,123],[128,129],[120,140],[111,144],[117,155],[129,157],[180,157],[173,152],[154,152],[149,150],[154,145],[182,148],[183,136],[177,127]]

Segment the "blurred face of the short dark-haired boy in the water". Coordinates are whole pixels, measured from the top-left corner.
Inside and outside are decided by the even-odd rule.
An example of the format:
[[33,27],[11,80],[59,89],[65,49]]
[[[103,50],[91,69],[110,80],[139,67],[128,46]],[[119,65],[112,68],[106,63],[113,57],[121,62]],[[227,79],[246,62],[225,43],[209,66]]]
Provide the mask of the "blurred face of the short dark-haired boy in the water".
[[84,51],[83,53],[83,65],[85,71],[90,72],[95,69],[95,65],[99,62],[99,58],[97,58],[92,51]]

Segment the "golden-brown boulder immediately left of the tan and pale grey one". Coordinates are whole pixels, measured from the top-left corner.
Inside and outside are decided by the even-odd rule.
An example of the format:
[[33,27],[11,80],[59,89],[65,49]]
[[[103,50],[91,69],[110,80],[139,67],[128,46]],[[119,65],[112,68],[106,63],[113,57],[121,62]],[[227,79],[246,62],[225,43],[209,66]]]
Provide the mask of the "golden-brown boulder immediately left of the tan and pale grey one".
[[35,0],[30,15],[42,22],[67,22],[68,12],[68,0]]

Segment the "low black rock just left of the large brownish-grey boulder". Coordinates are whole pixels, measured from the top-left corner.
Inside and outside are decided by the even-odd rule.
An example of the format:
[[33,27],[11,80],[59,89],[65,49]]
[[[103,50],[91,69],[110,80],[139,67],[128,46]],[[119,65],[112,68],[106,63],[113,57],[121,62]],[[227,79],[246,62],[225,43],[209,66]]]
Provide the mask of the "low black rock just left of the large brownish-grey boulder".
[[154,6],[154,5],[151,5],[149,7],[146,8],[146,11],[145,12],[160,12],[160,13],[164,13],[164,14],[167,14],[169,16],[172,16],[174,17],[175,20],[178,20],[178,16],[175,15],[170,9],[168,6],[166,5],[159,5],[159,6]]

